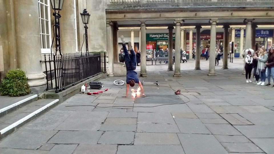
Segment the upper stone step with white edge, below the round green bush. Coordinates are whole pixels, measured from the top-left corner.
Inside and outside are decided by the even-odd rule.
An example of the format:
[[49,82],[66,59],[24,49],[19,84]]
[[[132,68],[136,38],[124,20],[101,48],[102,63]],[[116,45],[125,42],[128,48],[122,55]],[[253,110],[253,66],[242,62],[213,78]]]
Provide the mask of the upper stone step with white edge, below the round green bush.
[[21,108],[22,106],[38,100],[38,95],[29,94],[20,97],[0,96],[0,99],[0,117],[3,117],[6,114]]

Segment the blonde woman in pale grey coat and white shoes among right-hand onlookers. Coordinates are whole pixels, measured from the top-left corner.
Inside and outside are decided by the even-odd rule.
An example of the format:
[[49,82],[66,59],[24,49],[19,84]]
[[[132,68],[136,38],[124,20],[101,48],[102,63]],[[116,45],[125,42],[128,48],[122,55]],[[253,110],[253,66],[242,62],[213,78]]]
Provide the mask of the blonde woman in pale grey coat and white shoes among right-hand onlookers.
[[258,66],[257,66],[257,71],[256,74],[260,75],[261,81],[257,83],[257,85],[264,86],[265,85],[265,62],[267,61],[267,54],[265,51],[265,48],[260,48],[259,49],[259,57],[255,56],[253,58],[256,58],[258,60]]

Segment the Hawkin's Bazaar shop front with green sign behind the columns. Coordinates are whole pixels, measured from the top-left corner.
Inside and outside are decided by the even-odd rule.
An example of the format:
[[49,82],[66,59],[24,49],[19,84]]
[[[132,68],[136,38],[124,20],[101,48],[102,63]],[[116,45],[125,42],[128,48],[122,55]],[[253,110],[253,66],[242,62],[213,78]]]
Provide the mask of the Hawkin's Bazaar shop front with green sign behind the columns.
[[[173,33],[173,48],[175,48],[175,33]],[[168,48],[168,33],[146,33],[146,55],[154,58],[155,51]]]

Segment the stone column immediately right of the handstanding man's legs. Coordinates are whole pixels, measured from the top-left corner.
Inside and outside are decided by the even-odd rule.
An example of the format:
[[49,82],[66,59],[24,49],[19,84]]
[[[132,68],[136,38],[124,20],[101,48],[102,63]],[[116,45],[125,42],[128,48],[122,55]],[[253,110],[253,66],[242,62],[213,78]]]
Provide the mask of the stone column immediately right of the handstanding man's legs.
[[140,76],[146,77],[146,20],[141,20],[141,73]]

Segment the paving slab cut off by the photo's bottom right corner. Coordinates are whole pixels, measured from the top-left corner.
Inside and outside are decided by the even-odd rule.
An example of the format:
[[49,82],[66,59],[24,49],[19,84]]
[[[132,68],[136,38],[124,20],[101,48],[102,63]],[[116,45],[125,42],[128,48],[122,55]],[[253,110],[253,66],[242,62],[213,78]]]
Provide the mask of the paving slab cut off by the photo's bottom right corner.
[[266,153],[274,153],[274,138],[251,138],[250,140]]

